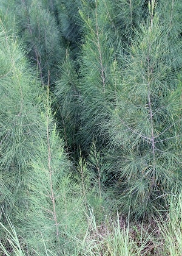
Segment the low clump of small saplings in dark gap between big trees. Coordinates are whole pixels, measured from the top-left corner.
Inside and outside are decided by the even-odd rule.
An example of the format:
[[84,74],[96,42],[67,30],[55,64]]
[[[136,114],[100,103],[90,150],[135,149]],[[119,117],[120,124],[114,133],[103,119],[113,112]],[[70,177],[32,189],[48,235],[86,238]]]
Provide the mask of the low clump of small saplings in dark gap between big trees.
[[107,191],[109,166],[96,150],[95,143],[90,148],[89,157],[78,161],[78,174],[86,209],[92,209],[94,218],[102,222],[105,216],[112,215],[116,210],[116,202]]

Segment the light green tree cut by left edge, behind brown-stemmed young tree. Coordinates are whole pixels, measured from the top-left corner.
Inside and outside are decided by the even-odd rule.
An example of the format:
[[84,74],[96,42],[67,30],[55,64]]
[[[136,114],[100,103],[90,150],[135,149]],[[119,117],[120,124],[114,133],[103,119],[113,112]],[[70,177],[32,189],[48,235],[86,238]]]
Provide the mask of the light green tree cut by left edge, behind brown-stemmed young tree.
[[1,207],[13,215],[15,205],[24,207],[27,163],[36,155],[42,136],[38,111],[42,90],[30,70],[21,47],[1,24]]

